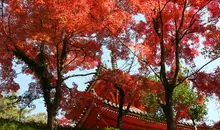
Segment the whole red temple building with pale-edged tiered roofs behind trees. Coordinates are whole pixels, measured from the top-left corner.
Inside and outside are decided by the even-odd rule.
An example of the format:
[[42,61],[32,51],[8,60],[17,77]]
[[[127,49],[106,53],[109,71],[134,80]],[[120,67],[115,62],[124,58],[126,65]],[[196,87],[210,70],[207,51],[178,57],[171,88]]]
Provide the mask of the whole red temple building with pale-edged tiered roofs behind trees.
[[[116,127],[119,108],[119,95],[117,90],[109,92],[106,87],[103,86],[101,80],[94,80],[86,88],[87,92],[91,92],[97,98],[102,100],[102,105],[95,102],[85,105],[81,111],[75,111],[77,113],[77,119],[75,120],[76,127],[84,128],[106,128]],[[105,95],[104,97],[101,95]],[[124,110],[127,109],[127,103],[124,103]],[[134,101],[131,104],[129,112],[122,118],[123,130],[166,130],[166,122],[159,121],[152,117],[143,118],[143,115],[147,115],[146,110],[141,105],[139,100]],[[195,130],[195,127],[191,123],[179,122],[177,123],[178,130]],[[197,130],[209,130],[210,128],[197,126]]]

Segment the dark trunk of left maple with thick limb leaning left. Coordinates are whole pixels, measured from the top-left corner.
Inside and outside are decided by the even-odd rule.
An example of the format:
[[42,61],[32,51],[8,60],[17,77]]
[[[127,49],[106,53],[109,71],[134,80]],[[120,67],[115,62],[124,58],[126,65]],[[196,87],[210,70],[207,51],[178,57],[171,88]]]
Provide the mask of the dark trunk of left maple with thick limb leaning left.
[[[28,67],[38,76],[40,85],[43,89],[43,97],[45,104],[47,106],[47,126],[48,130],[54,130],[55,129],[55,118],[57,114],[57,108],[60,103],[60,88],[61,88],[61,79],[57,82],[58,84],[55,86],[56,92],[55,96],[51,97],[51,90],[53,86],[51,86],[50,79],[51,74],[47,71],[46,65],[45,65],[45,57],[43,54],[40,53],[42,56],[42,61],[39,63],[36,63],[33,59],[29,58],[25,52],[21,51],[18,47],[16,47],[16,50],[13,51],[13,53],[20,58],[22,61],[25,62],[25,64],[28,65]],[[39,56],[40,56],[39,55]],[[53,99],[53,100],[52,100]]]

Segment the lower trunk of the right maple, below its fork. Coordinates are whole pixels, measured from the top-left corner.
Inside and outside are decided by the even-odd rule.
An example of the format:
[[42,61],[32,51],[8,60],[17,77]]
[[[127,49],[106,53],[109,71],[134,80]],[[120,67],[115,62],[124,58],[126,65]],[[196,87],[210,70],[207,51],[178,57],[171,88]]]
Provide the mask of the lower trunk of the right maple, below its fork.
[[165,116],[167,121],[167,130],[176,130],[176,122],[174,121],[173,114],[173,90],[166,90],[166,106],[165,106]]

